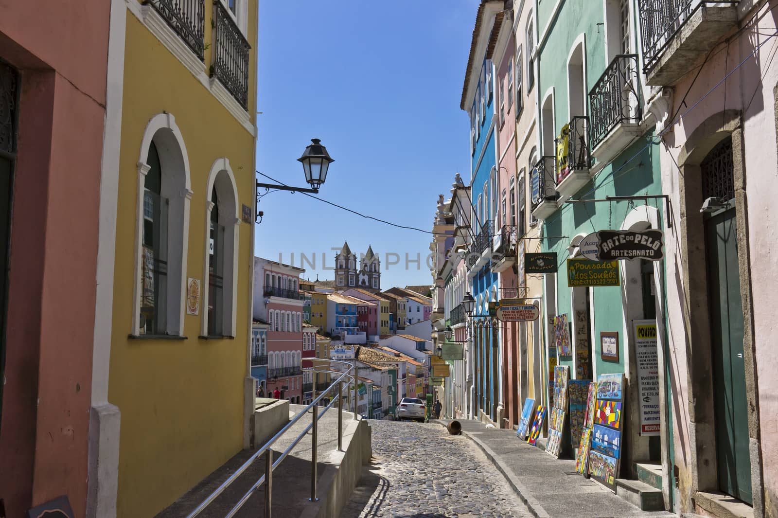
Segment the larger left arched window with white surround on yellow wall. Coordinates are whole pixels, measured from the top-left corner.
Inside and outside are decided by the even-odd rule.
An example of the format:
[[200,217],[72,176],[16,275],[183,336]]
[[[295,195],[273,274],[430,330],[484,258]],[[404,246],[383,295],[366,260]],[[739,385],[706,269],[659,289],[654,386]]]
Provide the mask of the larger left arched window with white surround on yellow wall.
[[146,125],[138,158],[132,334],[184,334],[189,159],[171,114]]

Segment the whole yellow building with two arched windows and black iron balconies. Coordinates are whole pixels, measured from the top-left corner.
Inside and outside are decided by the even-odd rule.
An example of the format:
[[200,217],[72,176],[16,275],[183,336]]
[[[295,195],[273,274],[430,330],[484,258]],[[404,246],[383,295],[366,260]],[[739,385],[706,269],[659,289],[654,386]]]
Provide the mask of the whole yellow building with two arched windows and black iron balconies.
[[251,432],[258,2],[171,5],[111,0],[94,516],[156,515]]

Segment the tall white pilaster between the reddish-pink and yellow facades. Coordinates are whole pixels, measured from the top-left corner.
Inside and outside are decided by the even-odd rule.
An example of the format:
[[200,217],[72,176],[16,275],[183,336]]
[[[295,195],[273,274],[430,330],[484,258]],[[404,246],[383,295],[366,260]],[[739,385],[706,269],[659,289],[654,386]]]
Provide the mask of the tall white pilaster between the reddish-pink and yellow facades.
[[119,192],[121,107],[127,9],[111,0],[106,70],[106,108],[100,164],[100,208],[95,272],[92,393],[89,410],[86,518],[116,518],[119,474],[119,408],[108,402],[113,331],[116,214]]

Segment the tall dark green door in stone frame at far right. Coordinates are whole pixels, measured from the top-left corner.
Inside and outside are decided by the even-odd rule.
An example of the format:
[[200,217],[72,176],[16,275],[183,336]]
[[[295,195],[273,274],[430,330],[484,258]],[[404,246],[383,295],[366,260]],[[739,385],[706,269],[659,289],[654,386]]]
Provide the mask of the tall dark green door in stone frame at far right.
[[719,488],[751,504],[735,209],[714,214],[705,227]]

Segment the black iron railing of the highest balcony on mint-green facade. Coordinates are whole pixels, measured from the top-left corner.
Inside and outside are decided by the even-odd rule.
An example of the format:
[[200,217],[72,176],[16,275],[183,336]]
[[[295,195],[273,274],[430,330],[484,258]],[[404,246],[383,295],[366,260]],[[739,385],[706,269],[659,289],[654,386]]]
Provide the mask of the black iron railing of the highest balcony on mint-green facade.
[[589,92],[591,149],[596,148],[613,128],[624,122],[637,123],[640,107],[637,54],[619,54]]

